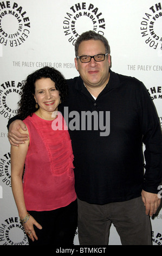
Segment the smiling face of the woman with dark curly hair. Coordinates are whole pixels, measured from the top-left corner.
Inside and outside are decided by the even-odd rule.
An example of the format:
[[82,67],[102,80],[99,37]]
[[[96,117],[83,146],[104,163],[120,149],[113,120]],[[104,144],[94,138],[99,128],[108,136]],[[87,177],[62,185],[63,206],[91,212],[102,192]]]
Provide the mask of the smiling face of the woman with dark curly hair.
[[59,90],[56,90],[55,82],[50,78],[41,78],[35,82],[34,98],[43,112],[57,111],[60,103]]

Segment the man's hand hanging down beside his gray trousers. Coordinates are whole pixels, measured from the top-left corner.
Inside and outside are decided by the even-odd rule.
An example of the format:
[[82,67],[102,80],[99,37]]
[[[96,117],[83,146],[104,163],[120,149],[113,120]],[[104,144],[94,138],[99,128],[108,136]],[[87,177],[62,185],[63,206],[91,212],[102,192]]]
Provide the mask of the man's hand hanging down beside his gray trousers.
[[150,215],[150,217],[152,217],[160,205],[160,198],[158,197],[158,194],[149,193],[142,190],[141,196],[146,208],[146,215]]

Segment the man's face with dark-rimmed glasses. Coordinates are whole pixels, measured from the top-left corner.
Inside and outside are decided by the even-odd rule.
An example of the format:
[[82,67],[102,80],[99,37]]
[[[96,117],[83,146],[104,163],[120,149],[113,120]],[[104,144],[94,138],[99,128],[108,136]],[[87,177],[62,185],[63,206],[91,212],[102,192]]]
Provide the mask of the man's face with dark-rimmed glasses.
[[[100,40],[82,41],[79,45],[78,56],[94,56],[96,54],[105,54],[105,46]],[[111,57],[105,57],[102,62],[96,62],[94,58],[88,63],[81,63],[80,59],[75,58],[75,66],[79,71],[82,80],[86,86],[91,88],[106,85],[109,78],[109,66],[111,65]]]

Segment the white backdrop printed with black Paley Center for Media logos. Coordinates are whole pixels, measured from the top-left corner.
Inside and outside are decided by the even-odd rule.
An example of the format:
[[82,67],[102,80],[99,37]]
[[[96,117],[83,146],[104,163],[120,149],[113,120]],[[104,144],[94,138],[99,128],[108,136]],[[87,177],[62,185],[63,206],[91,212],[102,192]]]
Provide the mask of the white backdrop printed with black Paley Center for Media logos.
[[[65,78],[78,76],[74,44],[88,30],[108,39],[112,71],[145,84],[162,125],[160,0],[0,0],[0,245],[28,245],[11,191],[7,137],[22,81],[43,66],[57,68]],[[151,222],[153,245],[162,245],[161,209]],[[79,245],[77,230],[74,244]],[[113,225],[109,245],[121,245]]]

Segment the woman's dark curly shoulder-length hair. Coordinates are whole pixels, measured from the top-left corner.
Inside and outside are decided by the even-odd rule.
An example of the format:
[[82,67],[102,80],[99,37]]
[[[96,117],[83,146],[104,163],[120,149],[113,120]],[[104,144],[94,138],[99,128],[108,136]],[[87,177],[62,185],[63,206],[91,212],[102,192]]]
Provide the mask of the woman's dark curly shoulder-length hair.
[[58,70],[50,68],[49,66],[36,70],[27,77],[27,80],[22,82],[22,96],[21,100],[18,102],[18,115],[22,120],[27,118],[28,115],[31,117],[33,113],[37,111],[34,99],[35,82],[41,78],[50,78],[54,81],[56,90],[59,90],[60,92],[61,102],[66,100],[68,86],[63,75]]

